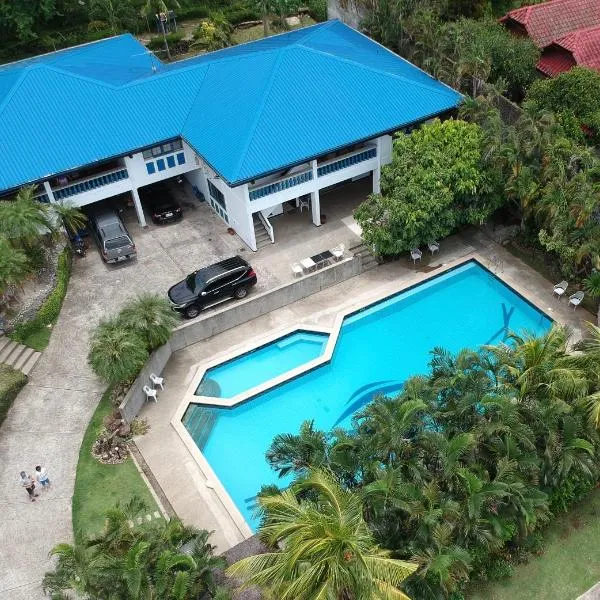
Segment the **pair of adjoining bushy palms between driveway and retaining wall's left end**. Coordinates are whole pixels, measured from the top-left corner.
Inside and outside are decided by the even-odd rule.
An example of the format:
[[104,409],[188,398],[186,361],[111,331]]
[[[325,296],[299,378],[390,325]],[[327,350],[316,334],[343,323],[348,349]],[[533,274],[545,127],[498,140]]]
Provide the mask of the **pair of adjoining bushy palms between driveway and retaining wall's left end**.
[[106,383],[132,379],[150,353],[169,339],[178,322],[165,298],[141,294],[94,329],[88,362]]

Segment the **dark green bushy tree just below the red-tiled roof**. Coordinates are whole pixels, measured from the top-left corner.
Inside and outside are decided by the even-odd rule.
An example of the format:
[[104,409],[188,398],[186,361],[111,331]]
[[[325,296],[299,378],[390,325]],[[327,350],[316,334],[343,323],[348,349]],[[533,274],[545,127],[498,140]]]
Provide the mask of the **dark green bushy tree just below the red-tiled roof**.
[[600,73],[574,67],[551,79],[537,80],[527,92],[534,111],[547,110],[569,122],[574,119],[593,136],[600,135]]

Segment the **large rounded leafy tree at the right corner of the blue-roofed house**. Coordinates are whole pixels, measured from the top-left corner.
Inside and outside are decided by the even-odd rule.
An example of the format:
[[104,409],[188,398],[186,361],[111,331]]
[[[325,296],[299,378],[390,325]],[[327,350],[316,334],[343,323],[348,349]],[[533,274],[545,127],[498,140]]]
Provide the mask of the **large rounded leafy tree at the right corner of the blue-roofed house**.
[[378,254],[397,255],[482,223],[497,207],[484,166],[479,126],[435,121],[394,140],[381,194],[355,212],[363,238]]

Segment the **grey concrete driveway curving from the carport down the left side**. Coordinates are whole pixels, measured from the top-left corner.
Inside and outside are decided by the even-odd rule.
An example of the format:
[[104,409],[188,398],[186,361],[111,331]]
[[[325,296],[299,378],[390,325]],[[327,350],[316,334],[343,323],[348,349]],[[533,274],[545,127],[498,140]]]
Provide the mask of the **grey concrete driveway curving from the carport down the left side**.
[[[0,599],[43,597],[48,551],[70,541],[79,447],[104,385],[87,366],[91,329],[141,291],[163,294],[203,264],[242,252],[237,236],[205,204],[184,206],[180,223],[141,230],[128,223],[138,259],[106,265],[95,246],[73,260],[73,275],[50,345],[0,428]],[[130,221],[131,216],[127,217]],[[261,286],[275,284],[268,272]],[[29,502],[21,470],[45,465],[53,486]]]

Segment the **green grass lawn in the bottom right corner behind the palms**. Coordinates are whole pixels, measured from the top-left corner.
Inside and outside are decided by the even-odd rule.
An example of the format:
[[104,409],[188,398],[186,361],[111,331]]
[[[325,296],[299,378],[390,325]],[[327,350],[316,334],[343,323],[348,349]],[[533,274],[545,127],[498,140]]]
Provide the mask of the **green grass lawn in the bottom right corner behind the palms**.
[[544,532],[545,552],[500,582],[473,585],[468,600],[575,600],[600,581],[600,489]]

